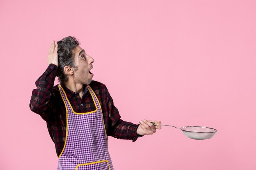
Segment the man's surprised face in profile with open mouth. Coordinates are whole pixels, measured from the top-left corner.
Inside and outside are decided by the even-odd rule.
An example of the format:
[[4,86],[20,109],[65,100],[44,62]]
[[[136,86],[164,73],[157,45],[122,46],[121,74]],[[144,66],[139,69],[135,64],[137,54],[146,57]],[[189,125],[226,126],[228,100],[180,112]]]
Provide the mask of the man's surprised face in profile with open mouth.
[[74,71],[74,81],[80,84],[90,84],[93,77],[90,70],[93,68],[94,59],[87,55],[80,46],[76,46],[73,54],[74,65],[77,67],[77,70]]

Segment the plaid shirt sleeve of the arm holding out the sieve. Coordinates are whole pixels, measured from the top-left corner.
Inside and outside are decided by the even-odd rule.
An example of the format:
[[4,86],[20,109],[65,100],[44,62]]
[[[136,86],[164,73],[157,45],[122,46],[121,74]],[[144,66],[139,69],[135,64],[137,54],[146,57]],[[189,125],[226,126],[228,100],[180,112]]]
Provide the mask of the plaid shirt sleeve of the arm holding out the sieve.
[[115,107],[114,102],[107,90],[107,104],[109,113],[109,131],[108,135],[117,139],[130,139],[136,141],[141,135],[137,135],[137,128],[139,124],[133,124],[123,121],[119,114],[118,109]]

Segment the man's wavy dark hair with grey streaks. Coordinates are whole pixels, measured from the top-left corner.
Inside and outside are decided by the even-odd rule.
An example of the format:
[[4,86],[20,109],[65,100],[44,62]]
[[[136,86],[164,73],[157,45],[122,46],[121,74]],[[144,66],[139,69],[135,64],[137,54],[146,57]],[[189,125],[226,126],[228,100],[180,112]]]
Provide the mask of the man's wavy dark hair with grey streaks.
[[76,38],[68,36],[58,41],[58,82],[65,83],[68,80],[67,75],[64,73],[64,67],[70,66],[74,70],[77,67],[74,64],[73,49],[79,45],[79,41]]

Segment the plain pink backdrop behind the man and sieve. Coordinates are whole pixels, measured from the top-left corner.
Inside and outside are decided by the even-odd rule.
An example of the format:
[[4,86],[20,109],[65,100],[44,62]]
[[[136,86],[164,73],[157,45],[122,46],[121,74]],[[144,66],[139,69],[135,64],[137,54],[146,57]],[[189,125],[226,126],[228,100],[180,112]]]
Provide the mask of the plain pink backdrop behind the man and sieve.
[[171,127],[109,137],[115,170],[255,170],[256,1],[1,0],[0,28],[1,170],[57,167],[29,100],[50,43],[68,35],[94,57],[122,119],[218,130],[204,141]]

